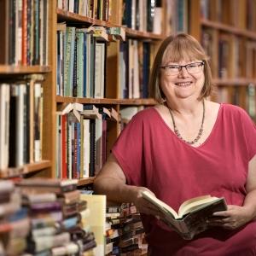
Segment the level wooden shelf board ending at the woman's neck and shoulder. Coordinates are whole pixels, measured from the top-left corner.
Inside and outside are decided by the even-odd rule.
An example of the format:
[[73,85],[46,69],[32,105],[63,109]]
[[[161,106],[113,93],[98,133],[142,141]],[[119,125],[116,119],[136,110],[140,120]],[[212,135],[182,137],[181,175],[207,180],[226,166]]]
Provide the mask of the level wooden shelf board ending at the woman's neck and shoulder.
[[56,102],[79,102],[83,104],[112,104],[112,105],[155,105],[153,99],[94,99],[56,96]]

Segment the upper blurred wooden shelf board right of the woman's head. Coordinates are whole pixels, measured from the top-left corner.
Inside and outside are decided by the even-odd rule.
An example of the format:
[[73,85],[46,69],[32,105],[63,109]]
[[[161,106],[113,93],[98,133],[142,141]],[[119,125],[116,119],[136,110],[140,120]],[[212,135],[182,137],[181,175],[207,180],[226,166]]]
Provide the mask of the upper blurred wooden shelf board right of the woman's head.
[[237,36],[243,36],[243,37],[247,37],[247,38],[256,39],[255,32],[243,30],[243,29],[237,28],[235,26],[224,25],[217,21],[201,19],[201,26],[208,26],[208,27],[215,28],[215,29],[218,29],[218,30],[221,30],[224,32],[230,32],[232,34],[236,34]]

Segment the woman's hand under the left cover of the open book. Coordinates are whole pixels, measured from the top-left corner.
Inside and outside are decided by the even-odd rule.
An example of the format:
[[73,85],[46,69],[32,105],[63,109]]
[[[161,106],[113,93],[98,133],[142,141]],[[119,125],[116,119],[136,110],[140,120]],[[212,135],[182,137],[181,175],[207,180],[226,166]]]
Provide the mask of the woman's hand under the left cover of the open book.
[[132,202],[137,208],[137,211],[140,213],[151,214],[154,216],[162,216],[164,217],[164,213],[160,212],[159,208],[154,206],[153,203],[143,198],[141,194],[141,190],[148,191],[150,194],[154,195],[152,191],[144,187],[133,187],[133,195],[132,195]]

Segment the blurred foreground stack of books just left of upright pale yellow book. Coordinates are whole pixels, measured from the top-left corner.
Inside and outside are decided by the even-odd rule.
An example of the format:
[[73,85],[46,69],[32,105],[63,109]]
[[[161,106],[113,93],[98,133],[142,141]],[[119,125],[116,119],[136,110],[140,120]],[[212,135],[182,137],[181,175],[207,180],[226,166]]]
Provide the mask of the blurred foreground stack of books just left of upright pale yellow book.
[[[22,206],[30,217],[26,253],[32,255],[80,255],[93,240],[82,223],[86,201],[80,201],[77,179],[24,179],[16,183]],[[91,248],[91,246],[90,246]]]

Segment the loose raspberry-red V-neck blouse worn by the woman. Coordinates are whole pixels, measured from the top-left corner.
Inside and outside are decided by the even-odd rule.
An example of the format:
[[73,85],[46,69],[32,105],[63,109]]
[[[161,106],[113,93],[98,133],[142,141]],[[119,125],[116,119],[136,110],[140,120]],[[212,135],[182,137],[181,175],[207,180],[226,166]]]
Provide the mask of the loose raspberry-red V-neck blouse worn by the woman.
[[[137,113],[112,152],[127,183],[144,186],[175,211],[199,195],[224,196],[242,206],[248,163],[256,154],[256,127],[247,113],[221,104],[210,136],[199,147],[180,140],[155,108]],[[237,230],[216,227],[185,241],[152,215],[142,214],[150,256],[256,255],[256,222]]]

